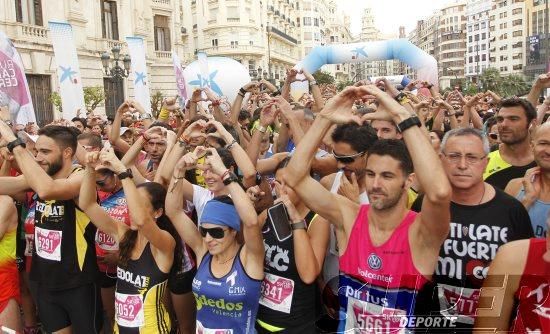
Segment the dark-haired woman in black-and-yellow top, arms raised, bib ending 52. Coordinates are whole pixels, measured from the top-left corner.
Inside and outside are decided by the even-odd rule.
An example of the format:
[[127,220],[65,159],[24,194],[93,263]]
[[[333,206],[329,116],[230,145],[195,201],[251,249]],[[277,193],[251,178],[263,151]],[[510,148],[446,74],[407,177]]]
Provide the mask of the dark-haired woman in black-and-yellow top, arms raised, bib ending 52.
[[[113,219],[96,202],[95,169],[100,162],[112,170],[122,184],[130,226]],[[88,153],[86,163],[79,206],[120,246],[114,333],[170,333],[170,318],[162,298],[172,263],[181,256],[181,243],[164,214],[166,191],[154,182],[136,187],[131,171],[112,149]]]

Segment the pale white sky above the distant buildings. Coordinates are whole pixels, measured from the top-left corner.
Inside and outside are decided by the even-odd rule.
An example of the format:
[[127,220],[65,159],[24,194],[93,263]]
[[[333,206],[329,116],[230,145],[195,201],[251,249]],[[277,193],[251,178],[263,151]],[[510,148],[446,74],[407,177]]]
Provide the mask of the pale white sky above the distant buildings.
[[339,7],[351,18],[351,33],[361,31],[363,9],[370,6],[375,15],[375,25],[384,34],[398,34],[399,26],[405,26],[409,34],[416,27],[416,21],[430,16],[449,0],[339,0]]

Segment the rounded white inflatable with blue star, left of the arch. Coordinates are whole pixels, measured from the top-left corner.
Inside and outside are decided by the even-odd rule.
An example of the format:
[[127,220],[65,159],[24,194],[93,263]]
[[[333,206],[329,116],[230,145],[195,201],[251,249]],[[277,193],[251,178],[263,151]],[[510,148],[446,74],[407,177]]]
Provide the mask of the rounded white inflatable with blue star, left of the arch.
[[[239,88],[250,82],[248,69],[236,60],[227,57],[208,57],[208,75],[201,73],[196,60],[183,70],[188,96],[201,87],[210,87],[219,96],[226,96],[233,103]],[[204,66],[202,66],[204,71]]]

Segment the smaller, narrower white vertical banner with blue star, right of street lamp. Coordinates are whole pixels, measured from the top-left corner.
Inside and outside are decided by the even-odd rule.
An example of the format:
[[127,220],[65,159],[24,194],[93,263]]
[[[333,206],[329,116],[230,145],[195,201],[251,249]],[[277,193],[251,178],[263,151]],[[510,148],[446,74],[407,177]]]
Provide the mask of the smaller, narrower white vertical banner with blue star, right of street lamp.
[[134,80],[135,99],[145,108],[151,110],[151,94],[149,92],[147,63],[145,62],[145,44],[141,37],[126,37],[128,53],[132,58],[132,73]]

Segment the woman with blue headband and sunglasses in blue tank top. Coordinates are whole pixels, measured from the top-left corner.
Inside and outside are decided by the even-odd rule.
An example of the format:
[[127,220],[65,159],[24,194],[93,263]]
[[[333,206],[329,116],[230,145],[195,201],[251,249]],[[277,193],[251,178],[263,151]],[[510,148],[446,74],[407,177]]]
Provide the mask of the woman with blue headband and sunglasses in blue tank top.
[[[185,156],[176,165],[166,197],[166,212],[197,256],[199,265],[193,280],[197,332],[253,333],[264,276],[264,244],[258,216],[218,152],[212,148],[206,151],[204,165],[188,164]],[[206,203],[199,229],[183,211],[184,186],[178,182],[186,168],[195,167],[220,178],[230,196]]]

